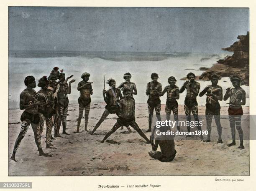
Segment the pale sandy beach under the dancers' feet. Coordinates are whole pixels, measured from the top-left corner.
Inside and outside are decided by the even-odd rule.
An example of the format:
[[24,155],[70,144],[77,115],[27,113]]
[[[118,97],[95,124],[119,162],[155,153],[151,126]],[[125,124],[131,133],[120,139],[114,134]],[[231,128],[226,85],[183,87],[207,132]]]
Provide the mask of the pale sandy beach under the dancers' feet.
[[[104,103],[91,103],[88,128],[91,131],[105,108]],[[165,104],[161,106],[161,115],[165,115]],[[228,107],[221,108],[221,114],[227,115]],[[248,114],[249,108],[243,107]],[[15,139],[20,131],[20,115],[23,111],[18,108],[9,109],[9,158],[13,151]],[[179,114],[184,114],[183,105],[179,106]],[[205,114],[205,106],[199,106],[199,114]],[[249,140],[244,140],[245,149],[239,150],[237,145],[228,147],[230,142],[230,127],[228,118],[222,120],[223,143],[217,144],[217,128],[212,121],[212,142],[204,143],[200,140],[186,140],[184,136],[176,136],[174,161],[161,163],[148,156],[151,145],[132,129],[118,129],[108,140],[100,143],[110,128],[116,122],[114,114],[109,115],[95,132],[94,136],[82,131],[73,133],[76,129],[78,104],[70,104],[67,116],[67,132],[70,136],[56,138],[53,142],[57,149],[45,148],[46,127],[42,134],[44,151],[51,152],[52,157],[38,156],[32,128],[30,127],[23,138],[16,160],[9,160],[9,176],[248,176],[249,175]],[[146,131],[148,128],[148,109],[146,104],[136,104],[136,122]],[[80,129],[84,128],[82,119]],[[205,127],[204,127],[205,128]],[[185,130],[185,129],[183,129]],[[204,130],[204,129],[203,129]],[[244,133],[248,127],[243,128]],[[60,132],[62,132],[62,127]],[[62,135],[62,134],[61,134]],[[150,136],[150,133],[146,133]],[[236,133],[238,136],[238,133]],[[159,150],[160,148],[158,148]]]

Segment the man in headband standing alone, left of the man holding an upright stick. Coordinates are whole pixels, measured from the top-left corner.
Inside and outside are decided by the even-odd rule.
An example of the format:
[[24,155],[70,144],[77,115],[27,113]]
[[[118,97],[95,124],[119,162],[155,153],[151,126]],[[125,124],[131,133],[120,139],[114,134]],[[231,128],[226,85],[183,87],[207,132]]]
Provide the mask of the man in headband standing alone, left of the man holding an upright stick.
[[91,106],[92,95],[92,82],[88,82],[90,77],[89,73],[82,73],[81,78],[83,79],[78,83],[77,90],[80,91],[80,97],[78,98],[79,103],[79,115],[77,119],[77,131],[79,133],[80,123],[84,112],[84,131],[87,131],[87,125],[89,120],[89,112]]

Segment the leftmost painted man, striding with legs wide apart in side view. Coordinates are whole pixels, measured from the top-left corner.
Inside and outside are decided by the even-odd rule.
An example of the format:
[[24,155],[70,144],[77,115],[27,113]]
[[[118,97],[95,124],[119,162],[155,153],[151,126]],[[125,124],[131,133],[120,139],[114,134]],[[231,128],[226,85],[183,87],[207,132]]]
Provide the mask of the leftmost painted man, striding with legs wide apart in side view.
[[18,138],[15,141],[13,154],[10,159],[16,162],[15,154],[20,146],[21,140],[24,138],[28,131],[28,127],[32,126],[36,146],[39,151],[39,156],[52,156],[49,153],[44,153],[42,146],[41,146],[41,129],[40,129],[40,116],[38,113],[38,105],[44,104],[43,101],[37,101],[36,99],[36,91],[33,88],[36,88],[36,81],[33,76],[27,76],[24,80],[25,85],[27,88],[20,93],[20,110],[25,110],[20,120],[22,121],[20,133]]

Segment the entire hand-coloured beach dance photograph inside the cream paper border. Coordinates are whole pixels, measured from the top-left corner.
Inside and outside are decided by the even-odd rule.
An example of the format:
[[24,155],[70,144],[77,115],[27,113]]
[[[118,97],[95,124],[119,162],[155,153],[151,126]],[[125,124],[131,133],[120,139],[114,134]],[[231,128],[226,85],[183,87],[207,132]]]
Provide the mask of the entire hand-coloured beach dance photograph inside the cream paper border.
[[249,8],[8,7],[8,98],[9,176],[249,176]]

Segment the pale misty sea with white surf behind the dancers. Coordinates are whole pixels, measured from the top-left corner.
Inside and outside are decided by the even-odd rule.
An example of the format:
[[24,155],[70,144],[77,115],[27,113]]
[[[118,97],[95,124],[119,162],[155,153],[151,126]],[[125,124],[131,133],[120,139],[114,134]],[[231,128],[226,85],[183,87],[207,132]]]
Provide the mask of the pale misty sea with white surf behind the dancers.
[[[109,78],[116,80],[117,86],[124,81],[123,74],[132,74],[131,81],[136,83],[138,94],[134,95],[136,103],[147,103],[146,84],[151,81],[151,73],[158,73],[159,82],[163,88],[168,85],[169,76],[177,79],[176,85],[181,88],[187,73],[195,75],[203,73],[200,67],[210,68],[217,60],[223,59],[232,53],[223,51],[221,53],[122,53],[122,52],[51,52],[51,51],[9,51],[9,108],[18,107],[20,92],[26,88],[24,79],[27,75],[33,75],[38,79],[44,75],[49,76],[55,66],[64,70],[66,77],[74,75],[76,80],[72,83],[72,91],[69,95],[70,103],[77,103],[79,91],[77,84],[82,80],[81,74],[90,73],[90,82],[93,82],[93,102],[104,102],[102,90],[105,81]],[[210,85],[210,81],[199,80],[203,90]],[[222,78],[218,83],[223,88],[223,95],[226,88],[232,87],[229,78]],[[109,88],[105,84],[106,89]],[[248,101],[248,86],[242,85],[246,91],[246,106]],[[39,87],[35,88],[40,90]],[[179,104],[184,104],[186,91],[180,94]],[[198,97],[199,106],[204,106],[206,97]],[[166,102],[166,95],[161,97],[161,103]],[[227,101],[220,101],[221,106],[228,106]]]

